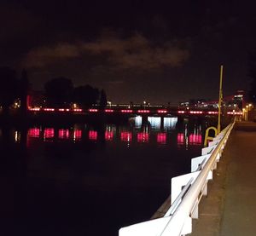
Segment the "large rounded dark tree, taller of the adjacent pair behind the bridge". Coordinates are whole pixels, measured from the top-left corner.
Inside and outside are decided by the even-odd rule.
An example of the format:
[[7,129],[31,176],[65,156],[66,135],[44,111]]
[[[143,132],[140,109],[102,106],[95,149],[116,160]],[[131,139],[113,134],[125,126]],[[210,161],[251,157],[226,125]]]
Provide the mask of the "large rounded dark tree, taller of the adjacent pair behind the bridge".
[[69,78],[53,78],[44,84],[48,106],[67,106],[73,94],[73,82]]

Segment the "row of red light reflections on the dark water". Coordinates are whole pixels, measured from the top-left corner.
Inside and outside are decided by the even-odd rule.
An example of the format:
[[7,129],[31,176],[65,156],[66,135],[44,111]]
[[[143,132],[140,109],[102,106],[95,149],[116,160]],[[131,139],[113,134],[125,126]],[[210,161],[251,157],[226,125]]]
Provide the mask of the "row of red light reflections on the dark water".
[[[172,128],[172,127],[171,127]],[[175,127],[174,127],[175,129]],[[18,137],[15,136],[15,141],[18,141]],[[117,127],[114,125],[107,125],[105,130],[93,130],[93,129],[55,129],[55,128],[40,128],[34,127],[27,131],[27,145],[29,146],[32,140],[42,140],[44,142],[51,141],[73,141],[80,142],[82,140],[88,141],[122,141],[128,144],[132,142],[149,143],[149,139],[160,145],[166,145],[170,142],[170,134],[166,130],[154,130],[149,129],[137,129],[131,131],[129,129],[121,129],[117,132]],[[17,140],[16,140],[17,139]],[[189,146],[201,146],[202,135],[201,128],[197,127],[189,132],[186,127],[183,132],[178,132],[176,136],[177,147],[189,147]]]

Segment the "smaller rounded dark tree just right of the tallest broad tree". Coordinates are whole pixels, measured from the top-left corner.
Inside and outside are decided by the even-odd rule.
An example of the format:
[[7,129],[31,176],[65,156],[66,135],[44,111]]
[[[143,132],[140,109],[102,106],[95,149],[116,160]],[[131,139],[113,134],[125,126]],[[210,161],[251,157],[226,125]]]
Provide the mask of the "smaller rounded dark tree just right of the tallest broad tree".
[[90,85],[79,86],[73,91],[73,101],[84,108],[89,108],[92,104],[96,104],[98,99],[99,90]]

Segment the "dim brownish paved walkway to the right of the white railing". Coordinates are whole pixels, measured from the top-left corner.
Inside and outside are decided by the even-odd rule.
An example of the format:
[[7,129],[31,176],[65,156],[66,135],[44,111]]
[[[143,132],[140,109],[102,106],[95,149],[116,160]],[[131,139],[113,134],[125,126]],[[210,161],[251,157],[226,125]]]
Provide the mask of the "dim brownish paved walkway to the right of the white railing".
[[256,123],[236,124],[189,235],[256,235]]

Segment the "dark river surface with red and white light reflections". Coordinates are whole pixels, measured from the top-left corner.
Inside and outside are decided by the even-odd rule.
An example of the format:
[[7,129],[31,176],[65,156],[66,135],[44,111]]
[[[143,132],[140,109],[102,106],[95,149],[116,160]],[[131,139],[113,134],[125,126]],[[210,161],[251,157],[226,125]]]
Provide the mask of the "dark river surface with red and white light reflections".
[[1,235],[117,236],[148,220],[188,173],[201,124],[0,127]]

